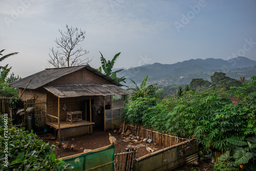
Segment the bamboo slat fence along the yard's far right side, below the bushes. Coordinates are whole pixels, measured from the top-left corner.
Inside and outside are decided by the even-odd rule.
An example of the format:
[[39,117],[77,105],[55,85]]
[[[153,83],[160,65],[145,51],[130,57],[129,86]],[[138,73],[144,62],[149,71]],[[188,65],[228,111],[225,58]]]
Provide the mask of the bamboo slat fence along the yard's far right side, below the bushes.
[[128,125],[127,128],[133,133],[134,136],[150,138],[152,139],[152,142],[163,147],[172,146],[187,140],[186,138],[175,137],[133,125]]

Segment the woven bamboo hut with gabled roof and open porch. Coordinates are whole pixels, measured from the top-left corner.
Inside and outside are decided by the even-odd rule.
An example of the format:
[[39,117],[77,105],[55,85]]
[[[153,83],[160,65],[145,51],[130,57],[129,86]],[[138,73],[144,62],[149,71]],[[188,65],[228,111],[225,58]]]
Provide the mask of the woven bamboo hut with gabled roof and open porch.
[[[112,115],[106,118],[106,111],[112,110],[111,96],[131,94],[89,65],[45,69],[9,86],[18,88],[23,101],[46,101],[46,114],[41,117],[46,117],[46,125],[57,131],[59,139],[90,134],[93,126],[105,131],[108,121],[113,124]],[[115,104],[119,109],[124,107],[124,102]]]

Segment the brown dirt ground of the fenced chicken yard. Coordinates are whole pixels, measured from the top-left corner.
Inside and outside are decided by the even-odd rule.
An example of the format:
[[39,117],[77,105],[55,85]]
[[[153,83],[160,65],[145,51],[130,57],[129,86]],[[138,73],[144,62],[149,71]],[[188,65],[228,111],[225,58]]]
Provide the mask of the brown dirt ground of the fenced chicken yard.
[[[67,149],[58,147],[57,144],[59,140],[55,139],[55,136],[52,134],[49,134],[49,133],[42,134],[42,135],[39,135],[39,138],[45,141],[46,143],[49,143],[49,145],[52,145],[52,144],[56,145],[57,146],[57,148],[55,149],[56,157],[59,156],[61,158],[61,157],[83,153],[84,149],[96,149],[106,145],[110,145],[109,133],[111,133],[111,135],[117,139],[118,144],[115,146],[115,152],[124,148],[137,147],[137,152],[135,155],[136,158],[139,158],[141,156],[148,154],[148,152],[146,151],[145,144],[148,144],[155,151],[158,151],[159,149],[164,148],[154,143],[144,143],[143,141],[135,142],[136,140],[134,140],[134,138],[130,136],[126,136],[124,138],[114,130],[104,132],[102,130],[94,129],[93,134],[91,135],[84,135],[80,137],[74,137],[74,138],[68,138],[68,139],[62,140],[61,143],[64,143],[64,144],[68,143]],[[75,146],[74,150],[71,149],[72,144]]]

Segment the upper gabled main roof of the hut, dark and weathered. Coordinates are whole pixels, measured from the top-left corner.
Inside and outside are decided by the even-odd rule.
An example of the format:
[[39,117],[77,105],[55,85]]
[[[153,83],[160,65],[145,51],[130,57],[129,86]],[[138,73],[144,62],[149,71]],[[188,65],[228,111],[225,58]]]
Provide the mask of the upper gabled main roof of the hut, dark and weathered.
[[38,73],[32,74],[30,76],[27,76],[23,79],[17,80],[13,83],[10,83],[8,86],[10,87],[17,87],[17,88],[23,88],[27,86],[29,83],[27,89],[37,89],[39,87],[45,86],[45,84],[52,82],[58,78],[61,78],[65,75],[68,75],[70,73],[76,72],[80,69],[86,69],[90,71],[91,73],[105,79],[106,81],[109,81],[112,84],[115,84],[116,86],[122,86],[119,82],[111,79],[108,76],[105,76],[104,74],[98,72],[97,70],[93,69],[89,65],[86,66],[76,66],[76,67],[68,67],[68,68],[52,68],[52,69],[45,69],[44,71],[40,71]]

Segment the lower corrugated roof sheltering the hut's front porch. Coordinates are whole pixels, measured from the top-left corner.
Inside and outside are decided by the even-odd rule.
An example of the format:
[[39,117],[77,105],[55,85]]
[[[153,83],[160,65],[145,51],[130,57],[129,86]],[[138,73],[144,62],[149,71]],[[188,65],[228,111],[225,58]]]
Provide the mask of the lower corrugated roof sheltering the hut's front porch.
[[132,92],[124,90],[113,84],[73,84],[47,86],[44,88],[59,98],[132,94]]

